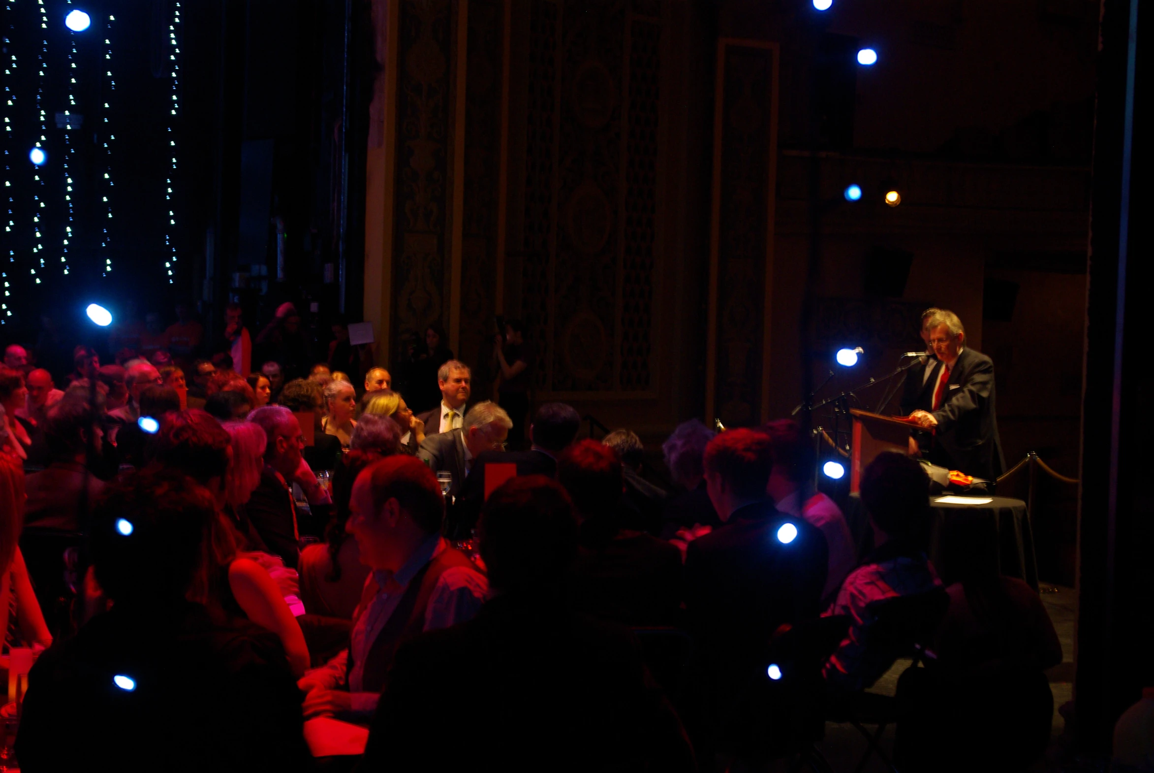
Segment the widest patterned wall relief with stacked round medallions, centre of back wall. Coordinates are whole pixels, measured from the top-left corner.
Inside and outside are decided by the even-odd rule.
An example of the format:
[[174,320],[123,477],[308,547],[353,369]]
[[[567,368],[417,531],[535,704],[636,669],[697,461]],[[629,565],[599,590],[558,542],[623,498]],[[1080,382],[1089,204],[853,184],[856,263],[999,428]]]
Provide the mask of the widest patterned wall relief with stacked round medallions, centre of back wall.
[[660,23],[535,0],[523,315],[540,391],[650,385]]

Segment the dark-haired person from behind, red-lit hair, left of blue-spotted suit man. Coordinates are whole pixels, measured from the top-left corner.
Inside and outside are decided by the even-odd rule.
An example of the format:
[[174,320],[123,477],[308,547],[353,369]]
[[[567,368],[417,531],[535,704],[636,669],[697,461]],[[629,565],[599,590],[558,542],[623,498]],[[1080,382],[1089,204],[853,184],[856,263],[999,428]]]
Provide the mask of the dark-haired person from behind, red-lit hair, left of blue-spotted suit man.
[[574,607],[623,625],[676,625],[681,551],[622,525],[621,467],[613,449],[592,440],[575,443],[557,459],[557,482],[580,521]]

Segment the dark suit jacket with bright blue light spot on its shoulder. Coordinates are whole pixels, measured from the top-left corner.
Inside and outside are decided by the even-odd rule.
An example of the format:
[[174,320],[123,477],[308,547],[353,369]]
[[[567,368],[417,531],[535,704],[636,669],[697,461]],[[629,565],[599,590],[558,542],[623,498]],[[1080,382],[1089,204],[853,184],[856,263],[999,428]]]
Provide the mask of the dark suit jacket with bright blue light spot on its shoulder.
[[[797,530],[788,545],[777,535],[786,521]],[[737,510],[725,526],[689,543],[685,610],[698,644],[692,692],[706,748],[743,691],[764,678],[765,646],[778,626],[820,613],[827,566],[820,530],[769,502]]]

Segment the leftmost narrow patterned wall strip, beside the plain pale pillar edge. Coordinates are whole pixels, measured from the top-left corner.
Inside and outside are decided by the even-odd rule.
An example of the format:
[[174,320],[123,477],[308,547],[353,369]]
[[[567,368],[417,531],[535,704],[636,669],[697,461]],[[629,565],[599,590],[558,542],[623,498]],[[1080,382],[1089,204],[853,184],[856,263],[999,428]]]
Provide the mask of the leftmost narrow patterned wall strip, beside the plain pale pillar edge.
[[440,323],[447,287],[449,0],[402,0],[397,95],[397,340]]

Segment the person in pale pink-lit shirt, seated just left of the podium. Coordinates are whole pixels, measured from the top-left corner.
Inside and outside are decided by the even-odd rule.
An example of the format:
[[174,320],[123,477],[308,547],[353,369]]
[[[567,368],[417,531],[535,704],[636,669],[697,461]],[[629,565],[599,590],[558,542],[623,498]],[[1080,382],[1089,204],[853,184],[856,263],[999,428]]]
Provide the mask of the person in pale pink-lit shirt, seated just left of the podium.
[[779,512],[804,518],[822,530],[830,548],[830,566],[822,599],[832,601],[841,580],[857,565],[857,550],[849,525],[833,500],[814,490],[814,446],[802,436],[797,423],[780,419],[765,425],[764,431],[770,436],[773,450],[773,472],[765,493]]

